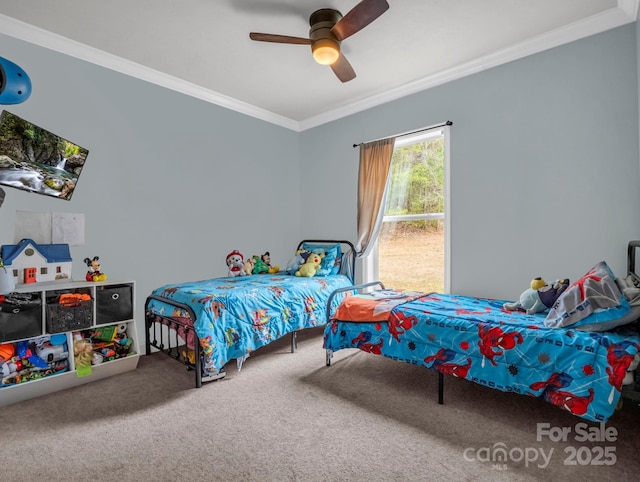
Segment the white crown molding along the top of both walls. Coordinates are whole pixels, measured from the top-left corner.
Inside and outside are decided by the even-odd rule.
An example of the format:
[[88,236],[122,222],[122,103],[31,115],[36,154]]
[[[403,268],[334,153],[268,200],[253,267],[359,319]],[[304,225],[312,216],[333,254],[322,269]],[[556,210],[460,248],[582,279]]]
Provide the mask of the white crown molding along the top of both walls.
[[635,22],[638,18],[639,5],[640,0],[618,0],[616,8],[606,10],[543,35],[538,35],[471,62],[466,62],[434,75],[417,79],[382,94],[373,95],[344,105],[339,109],[310,117],[301,122],[261,109],[210,89],[205,89],[191,82],[89,47],[2,14],[0,14],[0,32],[4,35],[60,52],[271,124],[301,132],[483,70],[497,67],[513,60]]

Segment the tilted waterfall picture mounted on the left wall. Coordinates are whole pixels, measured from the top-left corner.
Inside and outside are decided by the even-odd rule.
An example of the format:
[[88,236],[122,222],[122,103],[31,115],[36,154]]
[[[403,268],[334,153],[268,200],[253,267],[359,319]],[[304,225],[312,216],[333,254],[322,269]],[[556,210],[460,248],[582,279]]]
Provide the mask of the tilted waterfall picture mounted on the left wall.
[[71,200],[89,151],[15,114],[0,116],[0,185]]

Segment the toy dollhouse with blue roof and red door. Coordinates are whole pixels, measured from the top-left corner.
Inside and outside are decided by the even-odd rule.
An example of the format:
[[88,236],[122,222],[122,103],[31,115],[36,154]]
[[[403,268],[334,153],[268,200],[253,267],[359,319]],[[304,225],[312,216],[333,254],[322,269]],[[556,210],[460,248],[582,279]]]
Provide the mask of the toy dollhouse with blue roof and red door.
[[3,245],[0,256],[7,271],[13,271],[16,283],[68,280],[71,278],[71,254],[68,244],[37,244],[23,239]]

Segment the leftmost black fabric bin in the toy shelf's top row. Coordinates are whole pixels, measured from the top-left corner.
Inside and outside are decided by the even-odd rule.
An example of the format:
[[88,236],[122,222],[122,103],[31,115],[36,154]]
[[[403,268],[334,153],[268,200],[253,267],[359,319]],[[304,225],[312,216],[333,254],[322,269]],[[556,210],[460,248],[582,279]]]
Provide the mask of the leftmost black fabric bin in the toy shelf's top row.
[[0,303],[0,342],[42,335],[42,303],[33,295],[7,295]]

